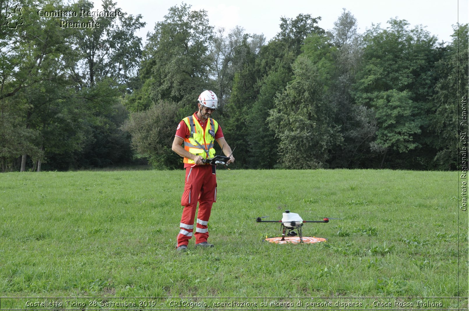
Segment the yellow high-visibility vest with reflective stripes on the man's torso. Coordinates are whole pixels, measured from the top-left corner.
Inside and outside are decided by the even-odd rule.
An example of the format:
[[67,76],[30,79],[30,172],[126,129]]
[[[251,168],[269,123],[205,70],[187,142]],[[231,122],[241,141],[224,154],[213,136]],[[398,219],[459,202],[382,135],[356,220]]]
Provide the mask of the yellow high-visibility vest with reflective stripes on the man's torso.
[[[202,156],[202,158],[212,158],[215,156],[213,148],[215,142],[215,133],[218,130],[218,122],[209,118],[210,122],[204,129],[198,122],[194,122],[194,116],[184,118],[183,121],[189,127],[190,136],[184,138],[184,149],[193,155]],[[212,132],[212,133],[211,133]],[[194,164],[189,158],[184,158],[184,163]]]

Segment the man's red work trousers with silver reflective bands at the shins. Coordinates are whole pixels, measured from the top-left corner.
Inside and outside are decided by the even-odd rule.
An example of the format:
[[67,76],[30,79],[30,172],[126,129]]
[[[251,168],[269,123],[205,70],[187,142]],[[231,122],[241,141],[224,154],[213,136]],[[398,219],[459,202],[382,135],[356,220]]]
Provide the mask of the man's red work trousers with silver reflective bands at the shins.
[[177,236],[177,246],[189,244],[194,230],[197,201],[196,244],[206,242],[208,238],[207,224],[212,211],[212,204],[217,200],[217,178],[212,174],[212,165],[200,165],[186,168],[184,193],[182,193],[182,210],[180,231]]

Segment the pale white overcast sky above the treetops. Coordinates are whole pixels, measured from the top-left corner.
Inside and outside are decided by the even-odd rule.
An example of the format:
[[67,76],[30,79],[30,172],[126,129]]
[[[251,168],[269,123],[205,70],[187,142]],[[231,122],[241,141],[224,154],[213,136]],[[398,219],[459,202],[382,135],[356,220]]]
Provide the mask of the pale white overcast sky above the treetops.
[[[168,9],[182,2],[191,5],[191,9],[207,11],[209,24],[224,27],[227,31],[235,26],[244,28],[245,33],[264,34],[266,42],[280,30],[280,17],[295,18],[298,14],[310,14],[321,17],[318,26],[331,30],[334,22],[342,13],[342,8],[352,13],[358,25],[358,32],[363,33],[373,24],[388,26],[390,18],[405,19],[413,28],[426,26],[438,41],[451,41],[454,30],[452,25],[469,22],[469,0],[114,0],[122,12],[142,15],[146,22],[144,29],[136,34],[146,41],[146,34],[153,32],[155,23],[164,20]],[[101,9],[101,0],[94,0],[95,9]]]

